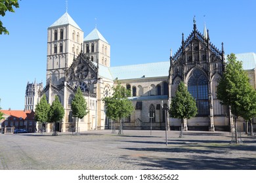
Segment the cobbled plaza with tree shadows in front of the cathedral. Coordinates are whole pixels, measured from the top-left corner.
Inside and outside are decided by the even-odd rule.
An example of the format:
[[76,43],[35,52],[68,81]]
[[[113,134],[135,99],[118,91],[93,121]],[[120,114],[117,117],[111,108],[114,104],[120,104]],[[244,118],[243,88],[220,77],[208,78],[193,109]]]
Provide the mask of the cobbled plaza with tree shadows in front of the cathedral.
[[256,136],[235,145],[229,132],[168,131],[166,146],[165,131],[123,132],[0,134],[0,169],[256,169]]

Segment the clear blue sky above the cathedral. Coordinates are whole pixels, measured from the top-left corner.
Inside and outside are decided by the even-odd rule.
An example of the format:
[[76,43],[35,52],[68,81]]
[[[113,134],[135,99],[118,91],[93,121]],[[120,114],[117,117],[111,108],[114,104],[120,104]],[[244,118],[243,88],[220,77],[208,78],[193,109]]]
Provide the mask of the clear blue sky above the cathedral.
[[[66,12],[66,0],[22,0],[15,13],[0,17],[10,35],[0,35],[3,109],[23,110],[28,82],[43,82],[47,27]],[[210,40],[225,54],[256,52],[256,1],[70,0],[68,14],[84,36],[95,24],[111,45],[111,65],[169,61],[193,30],[206,24]],[[96,18],[96,20],[95,20]]]

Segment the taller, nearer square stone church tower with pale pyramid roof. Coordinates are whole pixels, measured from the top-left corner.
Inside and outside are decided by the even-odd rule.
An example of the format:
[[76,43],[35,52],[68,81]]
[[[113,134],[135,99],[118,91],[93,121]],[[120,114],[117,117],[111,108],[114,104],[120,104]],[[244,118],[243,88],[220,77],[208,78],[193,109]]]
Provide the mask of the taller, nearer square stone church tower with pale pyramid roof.
[[83,31],[64,13],[48,27],[47,37],[47,84],[58,85],[64,82],[64,73],[78,56],[83,43]]

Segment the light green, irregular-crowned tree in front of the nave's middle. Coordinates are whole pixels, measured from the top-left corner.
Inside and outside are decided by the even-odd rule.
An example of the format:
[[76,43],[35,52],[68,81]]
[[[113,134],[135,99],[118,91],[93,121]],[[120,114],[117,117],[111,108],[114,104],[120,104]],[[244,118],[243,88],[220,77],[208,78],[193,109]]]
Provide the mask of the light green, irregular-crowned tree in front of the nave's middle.
[[102,99],[106,105],[106,116],[112,120],[119,120],[119,135],[123,134],[121,118],[127,118],[134,110],[133,103],[128,99],[130,95],[130,90],[117,83],[113,95]]

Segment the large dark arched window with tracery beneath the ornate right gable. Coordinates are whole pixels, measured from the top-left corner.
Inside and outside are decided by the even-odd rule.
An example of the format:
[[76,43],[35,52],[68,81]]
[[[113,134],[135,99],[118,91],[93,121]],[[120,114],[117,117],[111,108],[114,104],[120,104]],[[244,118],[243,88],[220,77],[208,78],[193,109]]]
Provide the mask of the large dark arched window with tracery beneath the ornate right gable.
[[196,99],[198,115],[209,115],[208,80],[203,71],[194,69],[188,79],[188,92]]

